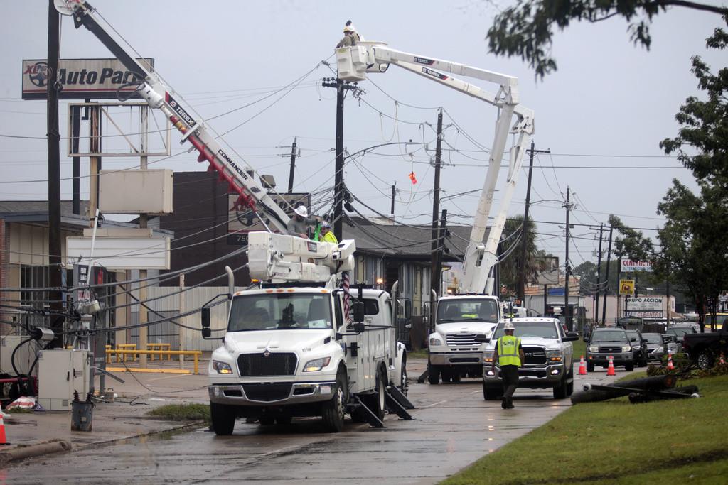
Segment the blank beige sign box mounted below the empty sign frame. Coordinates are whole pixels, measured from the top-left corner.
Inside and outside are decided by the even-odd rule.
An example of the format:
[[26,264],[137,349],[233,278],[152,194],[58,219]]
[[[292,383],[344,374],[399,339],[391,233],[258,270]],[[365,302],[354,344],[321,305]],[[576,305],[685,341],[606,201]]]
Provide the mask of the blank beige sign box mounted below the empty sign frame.
[[172,214],[172,170],[102,170],[99,184],[101,212]]

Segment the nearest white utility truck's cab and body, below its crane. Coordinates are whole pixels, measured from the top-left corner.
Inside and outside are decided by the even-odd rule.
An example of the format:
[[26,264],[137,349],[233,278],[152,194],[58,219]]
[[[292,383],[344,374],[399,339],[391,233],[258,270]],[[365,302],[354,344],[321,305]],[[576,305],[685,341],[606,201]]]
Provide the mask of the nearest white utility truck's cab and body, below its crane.
[[[395,341],[389,294],[363,289],[360,295],[355,315],[363,316],[345,326],[341,289],[277,286],[235,293],[223,345],[208,367],[215,433],[232,434],[237,417],[272,425],[321,416],[332,432],[343,428],[345,413],[381,423],[385,409],[397,406],[392,393],[407,393],[406,354]],[[209,324],[205,313],[203,327]]]

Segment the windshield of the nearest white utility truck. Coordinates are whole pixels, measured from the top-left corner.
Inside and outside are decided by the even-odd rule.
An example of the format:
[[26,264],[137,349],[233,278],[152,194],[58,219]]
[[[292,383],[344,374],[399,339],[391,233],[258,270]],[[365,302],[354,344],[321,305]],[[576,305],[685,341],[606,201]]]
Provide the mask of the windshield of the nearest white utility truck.
[[272,293],[234,297],[228,332],[331,329],[328,294]]

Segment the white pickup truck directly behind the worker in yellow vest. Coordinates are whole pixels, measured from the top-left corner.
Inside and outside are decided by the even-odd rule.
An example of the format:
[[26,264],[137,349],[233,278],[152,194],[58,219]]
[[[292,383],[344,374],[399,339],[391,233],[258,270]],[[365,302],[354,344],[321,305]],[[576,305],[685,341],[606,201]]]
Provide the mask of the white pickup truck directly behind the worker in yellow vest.
[[483,351],[483,398],[497,399],[503,393],[500,367],[492,370],[496,340],[503,336],[503,325],[515,326],[515,337],[521,339],[526,361],[518,368],[518,387],[553,388],[555,399],[565,399],[574,392],[574,351],[571,342],[579,340],[572,332],[564,332],[558,318],[507,318],[499,322],[493,335],[478,337],[486,342]]

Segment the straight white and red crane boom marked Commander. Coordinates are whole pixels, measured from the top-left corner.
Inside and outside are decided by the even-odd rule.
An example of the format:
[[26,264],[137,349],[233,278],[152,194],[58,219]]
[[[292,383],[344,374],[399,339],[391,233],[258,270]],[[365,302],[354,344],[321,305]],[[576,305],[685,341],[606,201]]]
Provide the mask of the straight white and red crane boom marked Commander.
[[199,151],[197,161],[207,161],[209,171],[217,172],[221,180],[229,185],[229,191],[238,194],[235,207],[252,210],[266,227],[286,232],[286,224],[290,217],[278,207],[266,189],[258,183],[255,177],[250,177],[232,157],[221,148],[210,135],[201,119],[194,119],[183,108],[175,97],[173,89],[165,86],[159,76],[140,63],[135,57],[122,47],[100,23],[95,9],[85,0],[55,0],[55,7],[63,15],[72,15],[76,28],[84,25],[91,31],[121,62],[135,73],[140,80],[137,92],[152,108],[165,113],[175,128],[182,133],[180,143],[185,140]]

